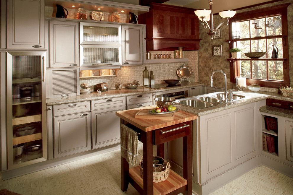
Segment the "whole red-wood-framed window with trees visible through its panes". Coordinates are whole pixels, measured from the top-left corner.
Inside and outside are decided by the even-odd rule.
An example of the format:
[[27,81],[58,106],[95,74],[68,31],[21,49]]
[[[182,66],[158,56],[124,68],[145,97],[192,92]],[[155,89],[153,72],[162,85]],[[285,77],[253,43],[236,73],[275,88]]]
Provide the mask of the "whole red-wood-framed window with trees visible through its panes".
[[[230,48],[241,48],[240,59],[230,59],[231,82],[242,75],[247,84],[279,87],[289,84],[287,7],[289,4],[236,14],[230,19]],[[278,58],[271,58],[273,46]],[[246,52],[265,52],[260,58],[248,58]]]

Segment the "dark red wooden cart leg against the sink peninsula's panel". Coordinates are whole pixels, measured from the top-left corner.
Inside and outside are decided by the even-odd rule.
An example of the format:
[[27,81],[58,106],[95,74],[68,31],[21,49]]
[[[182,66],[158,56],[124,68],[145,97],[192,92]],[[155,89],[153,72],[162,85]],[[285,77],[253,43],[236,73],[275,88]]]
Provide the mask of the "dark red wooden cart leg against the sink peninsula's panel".
[[187,180],[187,193],[192,194],[192,131],[191,126],[189,134],[183,137],[183,178]]

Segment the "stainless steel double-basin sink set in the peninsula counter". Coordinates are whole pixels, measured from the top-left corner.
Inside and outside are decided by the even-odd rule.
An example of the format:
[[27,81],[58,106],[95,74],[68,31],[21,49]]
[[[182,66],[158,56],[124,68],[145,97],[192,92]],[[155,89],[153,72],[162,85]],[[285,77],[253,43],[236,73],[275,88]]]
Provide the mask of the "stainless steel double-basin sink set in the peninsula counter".
[[[208,108],[211,106],[220,105],[221,104],[220,98],[222,98],[222,103],[225,103],[224,92],[215,92],[215,93],[209,93],[205,95],[194,96],[190,98],[178,99],[178,100],[175,100],[174,103],[190,106],[195,109],[203,109],[203,108]],[[245,98],[246,97],[243,95],[233,94],[232,99],[229,100],[229,102],[244,100]]]

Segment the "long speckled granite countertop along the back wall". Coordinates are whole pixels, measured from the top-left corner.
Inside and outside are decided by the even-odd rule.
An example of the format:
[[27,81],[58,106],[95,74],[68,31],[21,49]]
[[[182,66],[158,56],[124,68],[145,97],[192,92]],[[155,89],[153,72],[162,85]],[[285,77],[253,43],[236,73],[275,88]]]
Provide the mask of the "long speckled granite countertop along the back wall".
[[185,82],[182,86],[176,86],[176,87],[168,87],[163,89],[150,89],[147,87],[139,86],[137,89],[127,89],[123,88],[121,90],[108,90],[106,92],[97,93],[92,92],[90,94],[81,94],[81,95],[75,95],[75,96],[68,96],[68,97],[60,97],[60,98],[47,98],[46,103],[47,105],[58,105],[58,104],[67,104],[67,103],[75,103],[75,102],[84,102],[84,101],[90,101],[90,100],[99,100],[99,99],[107,99],[107,98],[117,98],[117,97],[123,97],[127,95],[139,95],[139,94],[146,94],[146,93],[154,93],[154,92],[161,92],[161,91],[169,91],[169,90],[175,90],[175,89],[183,89],[188,87],[196,87],[204,85],[203,83],[198,82]]

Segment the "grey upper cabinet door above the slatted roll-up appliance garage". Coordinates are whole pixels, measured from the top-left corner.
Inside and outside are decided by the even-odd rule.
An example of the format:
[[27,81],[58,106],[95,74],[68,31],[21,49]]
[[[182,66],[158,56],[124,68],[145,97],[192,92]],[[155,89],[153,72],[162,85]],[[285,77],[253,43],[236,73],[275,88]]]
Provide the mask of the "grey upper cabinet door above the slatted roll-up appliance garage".
[[79,66],[78,22],[50,21],[50,67]]

